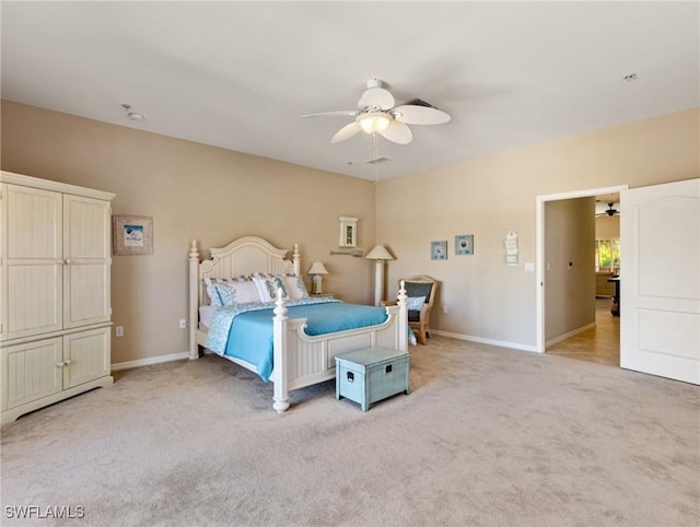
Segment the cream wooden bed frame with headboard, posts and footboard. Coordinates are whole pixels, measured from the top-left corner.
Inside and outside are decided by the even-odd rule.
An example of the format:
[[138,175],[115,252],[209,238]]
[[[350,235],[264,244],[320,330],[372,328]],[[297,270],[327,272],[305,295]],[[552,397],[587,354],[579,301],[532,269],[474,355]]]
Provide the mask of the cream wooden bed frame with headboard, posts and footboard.
[[[247,236],[232,242],[222,249],[211,249],[212,259],[200,264],[196,242],[189,251],[189,327],[191,360],[199,358],[199,346],[205,347],[206,331],[199,328],[199,306],[203,303],[202,278],[233,277],[260,271],[249,268],[266,261],[266,272],[293,272],[299,274],[300,257],[296,246],[293,260],[284,259],[283,249],[272,247],[268,242]],[[258,258],[258,253],[260,257]],[[241,258],[244,254],[245,258]],[[242,264],[243,262],[243,264]],[[336,355],[364,348],[394,348],[408,350],[407,295],[401,283],[397,305],[387,306],[387,319],[380,325],[338,331],[335,333],[308,336],[304,332],[305,318],[289,318],[288,307],[278,291],[273,318],[273,364],[270,379],[275,385],[272,407],[278,412],[289,408],[290,390],[323,383],[336,376]],[[225,356],[230,361],[258,373],[257,368],[243,360]]]

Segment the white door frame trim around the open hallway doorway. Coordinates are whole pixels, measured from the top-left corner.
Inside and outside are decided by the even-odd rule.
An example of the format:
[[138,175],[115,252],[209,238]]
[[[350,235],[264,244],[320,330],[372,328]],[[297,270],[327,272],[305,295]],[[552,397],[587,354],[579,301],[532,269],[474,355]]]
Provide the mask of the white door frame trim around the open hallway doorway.
[[[536,316],[536,320],[537,320],[537,337],[536,337],[536,351],[539,353],[545,353],[547,351],[547,341],[546,341],[546,327],[545,327],[545,323],[546,323],[546,314],[547,314],[547,302],[546,302],[546,295],[545,295],[545,289],[546,289],[546,280],[547,280],[547,269],[546,269],[546,259],[545,259],[545,239],[546,239],[546,222],[545,222],[545,207],[548,202],[550,201],[559,201],[559,200],[571,200],[571,199],[578,199],[578,198],[595,198],[596,196],[600,196],[600,195],[609,195],[609,194],[617,194],[620,192],[621,190],[626,190],[628,188],[628,185],[618,185],[615,187],[603,187],[603,188],[593,188],[593,189],[586,189],[586,190],[575,190],[575,191],[570,191],[570,192],[561,192],[561,194],[552,194],[552,195],[546,195],[546,196],[538,196],[537,197],[537,207],[536,207],[536,224],[537,224],[537,246],[536,246],[536,270],[537,270],[537,276],[536,276],[536,286],[537,286],[537,316]],[[596,301],[597,304],[597,301]],[[596,305],[596,311],[597,311],[597,305]],[[596,318],[597,318],[597,313],[596,313]],[[619,318],[617,318],[617,324],[618,324],[618,328],[617,328],[617,346],[619,349]],[[584,336],[584,333],[586,331],[590,330],[595,330],[595,325],[592,325],[591,328],[585,329],[585,331],[582,331],[580,335]],[[611,329],[615,329],[614,327]],[[614,335],[614,333],[612,333]],[[614,338],[614,337],[610,337]],[[583,343],[583,346],[585,346],[585,342]]]

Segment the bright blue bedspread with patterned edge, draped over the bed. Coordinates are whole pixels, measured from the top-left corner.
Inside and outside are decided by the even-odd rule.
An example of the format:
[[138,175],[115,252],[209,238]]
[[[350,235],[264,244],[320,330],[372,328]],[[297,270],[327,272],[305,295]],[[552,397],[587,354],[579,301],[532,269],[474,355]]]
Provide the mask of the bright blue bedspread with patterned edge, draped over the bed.
[[[271,304],[224,307],[214,314],[206,346],[211,351],[254,364],[267,382],[272,373],[273,337]],[[329,298],[290,301],[289,318],[306,318],[305,332],[325,335],[386,320],[384,307],[346,304]]]

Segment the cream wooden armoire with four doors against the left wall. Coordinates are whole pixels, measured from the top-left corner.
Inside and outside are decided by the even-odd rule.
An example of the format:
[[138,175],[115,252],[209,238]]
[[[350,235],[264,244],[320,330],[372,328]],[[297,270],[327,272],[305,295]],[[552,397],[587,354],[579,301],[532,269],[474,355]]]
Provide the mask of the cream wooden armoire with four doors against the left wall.
[[114,197],[0,172],[2,423],[113,383]]

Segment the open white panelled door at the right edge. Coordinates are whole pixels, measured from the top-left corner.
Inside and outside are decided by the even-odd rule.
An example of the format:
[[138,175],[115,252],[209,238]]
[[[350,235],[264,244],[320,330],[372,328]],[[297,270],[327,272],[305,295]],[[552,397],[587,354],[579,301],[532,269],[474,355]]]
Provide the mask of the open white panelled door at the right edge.
[[700,384],[700,179],[620,192],[620,366]]

